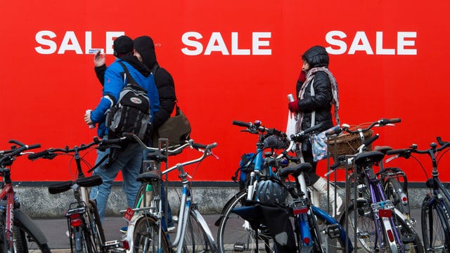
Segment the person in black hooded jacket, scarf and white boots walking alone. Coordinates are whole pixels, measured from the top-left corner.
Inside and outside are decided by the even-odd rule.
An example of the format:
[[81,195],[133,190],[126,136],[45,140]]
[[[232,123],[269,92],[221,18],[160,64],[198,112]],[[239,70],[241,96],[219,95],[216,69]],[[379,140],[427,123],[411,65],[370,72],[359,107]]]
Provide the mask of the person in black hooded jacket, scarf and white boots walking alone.
[[[297,113],[296,132],[308,129],[311,126],[322,123],[318,132],[325,131],[333,127],[333,117],[331,113],[332,105],[338,104],[338,86],[335,77],[328,70],[329,57],[323,46],[313,46],[302,56],[303,66],[300,76],[297,79],[297,100],[290,102],[288,108],[290,112]],[[319,193],[334,197],[335,189],[327,187],[327,181],[316,174],[317,162],[314,162],[311,142],[309,138],[302,142],[300,151],[305,162],[312,165],[312,170],[307,172],[309,186]],[[320,195],[318,195],[320,196]],[[320,202],[316,199],[316,201]],[[333,216],[338,216],[342,212],[342,198],[338,195],[336,200],[330,200]],[[337,212],[334,214],[335,205]]]

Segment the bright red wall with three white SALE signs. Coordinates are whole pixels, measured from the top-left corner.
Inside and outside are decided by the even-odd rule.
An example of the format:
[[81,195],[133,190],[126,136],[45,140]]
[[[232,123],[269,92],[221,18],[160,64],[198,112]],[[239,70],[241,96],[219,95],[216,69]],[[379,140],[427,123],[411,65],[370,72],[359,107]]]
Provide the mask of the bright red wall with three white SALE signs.
[[[316,44],[330,52],[342,123],[401,117],[401,124],[375,130],[378,145],[394,148],[425,149],[438,135],[450,140],[449,1],[43,3],[8,1],[0,15],[0,150],[11,138],[43,148],[89,143],[96,131],[83,115],[98,103],[101,86],[88,51],[106,48],[111,63],[111,38],[123,33],[153,37],[192,138],[219,144],[220,160],[205,160],[198,181],[229,181],[240,154],[255,149],[257,136],[240,132],[233,119],[285,129],[286,95],[295,91],[302,53]],[[94,164],[95,155],[86,159]],[[449,165],[442,161],[441,168]],[[23,157],[13,180],[68,180],[68,164],[63,157],[34,163]],[[425,179],[417,164],[399,165],[408,167],[410,181]]]

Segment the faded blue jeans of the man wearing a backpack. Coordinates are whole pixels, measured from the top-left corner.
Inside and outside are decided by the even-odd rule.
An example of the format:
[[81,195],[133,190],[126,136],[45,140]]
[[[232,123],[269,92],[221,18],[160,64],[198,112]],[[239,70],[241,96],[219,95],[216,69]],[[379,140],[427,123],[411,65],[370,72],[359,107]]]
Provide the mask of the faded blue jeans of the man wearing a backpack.
[[[142,167],[142,150],[143,148],[138,143],[129,143],[127,148],[124,148],[124,150],[121,150],[118,153],[117,160],[113,162],[111,167],[103,169],[100,166],[94,170],[93,175],[100,175],[103,183],[100,186],[91,188],[89,197],[96,200],[101,221],[103,221],[103,218],[105,217],[105,209],[108,204],[108,197],[111,193],[111,186],[119,171],[122,172],[122,189],[127,196],[128,207],[133,208],[139,186],[141,186],[141,183],[136,181],[136,178],[139,176],[139,171]],[[96,163],[100,162],[100,160],[109,153],[109,148],[105,151],[97,150]],[[106,159],[103,164],[106,162],[108,162],[108,159]]]

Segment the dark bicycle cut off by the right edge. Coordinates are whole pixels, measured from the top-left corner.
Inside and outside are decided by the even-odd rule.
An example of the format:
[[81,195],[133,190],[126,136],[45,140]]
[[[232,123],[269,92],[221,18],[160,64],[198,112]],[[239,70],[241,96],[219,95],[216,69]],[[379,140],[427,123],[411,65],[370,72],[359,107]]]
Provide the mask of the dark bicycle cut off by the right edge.
[[[437,147],[439,143],[440,147]],[[446,187],[439,180],[439,171],[437,165],[440,158],[449,151],[450,142],[442,141],[437,137],[437,143],[430,143],[430,148],[426,150],[418,150],[418,145],[413,144],[409,148],[390,150],[387,155],[396,155],[395,157],[403,157],[409,159],[413,157],[412,154],[426,154],[430,157],[432,162],[431,178],[427,176],[426,186],[430,188],[423,202],[421,209],[422,220],[422,237],[424,247],[427,252],[450,252],[450,208],[449,203],[450,193]],[[413,157],[422,167],[425,168],[416,157]]]

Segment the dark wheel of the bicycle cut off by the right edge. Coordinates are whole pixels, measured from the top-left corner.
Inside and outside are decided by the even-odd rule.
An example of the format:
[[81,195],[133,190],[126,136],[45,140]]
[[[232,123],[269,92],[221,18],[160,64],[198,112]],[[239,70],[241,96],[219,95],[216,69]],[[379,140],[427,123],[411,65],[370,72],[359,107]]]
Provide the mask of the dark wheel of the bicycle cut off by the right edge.
[[427,252],[450,252],[450,228],[444,202],[427,195],[422,204],[422,237]]

